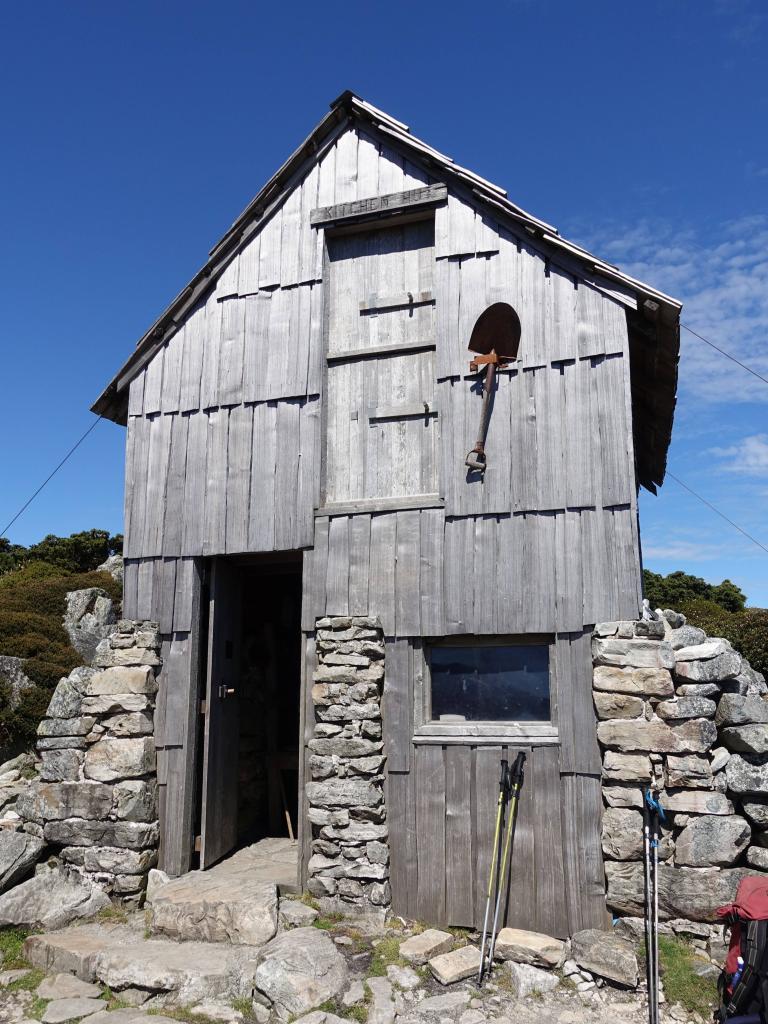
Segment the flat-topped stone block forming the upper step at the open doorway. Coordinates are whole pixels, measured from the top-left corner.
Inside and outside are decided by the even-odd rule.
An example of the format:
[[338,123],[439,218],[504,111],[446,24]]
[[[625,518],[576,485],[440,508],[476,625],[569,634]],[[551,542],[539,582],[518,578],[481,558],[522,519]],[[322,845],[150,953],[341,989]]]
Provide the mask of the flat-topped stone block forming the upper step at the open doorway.
[[150,930],[176,939],[264,945],[278,930],[278,887],[254,878],[251,850],[241,850],[159,889]]

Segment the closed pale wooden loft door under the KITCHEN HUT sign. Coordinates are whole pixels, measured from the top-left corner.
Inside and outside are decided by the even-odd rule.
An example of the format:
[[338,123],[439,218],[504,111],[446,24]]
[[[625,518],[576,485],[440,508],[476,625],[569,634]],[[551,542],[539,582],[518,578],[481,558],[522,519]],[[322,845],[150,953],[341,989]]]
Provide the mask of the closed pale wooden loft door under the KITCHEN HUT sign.
[[437,492],[434,223],[329,240],[326,502]]

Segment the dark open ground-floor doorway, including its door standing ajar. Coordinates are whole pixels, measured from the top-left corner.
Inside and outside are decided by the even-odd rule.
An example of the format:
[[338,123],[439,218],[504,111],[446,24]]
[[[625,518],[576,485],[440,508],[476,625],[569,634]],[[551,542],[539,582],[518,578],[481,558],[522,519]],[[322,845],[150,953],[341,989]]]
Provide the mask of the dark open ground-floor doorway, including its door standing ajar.
[[198,864],[254,844],[297,863],[301,556],[215,558],[207,598]]

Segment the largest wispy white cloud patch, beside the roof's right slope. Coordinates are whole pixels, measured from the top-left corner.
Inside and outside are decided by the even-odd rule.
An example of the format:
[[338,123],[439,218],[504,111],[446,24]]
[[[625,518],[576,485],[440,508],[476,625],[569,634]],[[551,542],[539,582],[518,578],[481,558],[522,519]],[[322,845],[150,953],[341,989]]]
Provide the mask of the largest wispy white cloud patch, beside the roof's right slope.
[[[587,246],[680,298],[684,324],[768,377],[768,216],[715,225],[707,236],[650,220],[606,225]],[[768,385],[687,331],[680,390],[708,403],[768,401]]]

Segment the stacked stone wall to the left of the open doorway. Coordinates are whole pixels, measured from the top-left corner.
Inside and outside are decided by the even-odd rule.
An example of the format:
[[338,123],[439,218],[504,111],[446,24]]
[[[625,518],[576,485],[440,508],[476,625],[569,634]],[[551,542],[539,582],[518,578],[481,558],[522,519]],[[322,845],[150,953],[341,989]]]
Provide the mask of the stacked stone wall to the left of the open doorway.
[[141,899],[158,858],[159,651],[157,623],[123,620],[92,668],[60,680],[38,727],[39,778],[16,802],[46,853],[126,902]]

